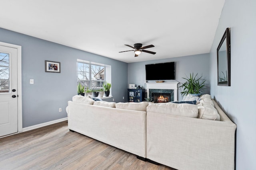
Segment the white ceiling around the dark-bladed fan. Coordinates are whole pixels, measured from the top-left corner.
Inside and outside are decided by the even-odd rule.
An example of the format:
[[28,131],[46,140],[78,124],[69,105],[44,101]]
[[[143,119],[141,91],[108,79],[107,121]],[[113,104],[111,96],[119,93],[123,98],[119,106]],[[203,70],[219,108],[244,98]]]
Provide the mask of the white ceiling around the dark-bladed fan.
[[132,63],[209,53],[224,1],[0,0],[0,27]]

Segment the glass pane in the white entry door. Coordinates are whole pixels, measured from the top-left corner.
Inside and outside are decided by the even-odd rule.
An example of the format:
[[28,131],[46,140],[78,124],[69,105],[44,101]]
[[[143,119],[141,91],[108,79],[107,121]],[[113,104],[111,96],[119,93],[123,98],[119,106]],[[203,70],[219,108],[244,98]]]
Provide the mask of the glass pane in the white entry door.
[[9,54],[0,53],[0,93],[9,92]]

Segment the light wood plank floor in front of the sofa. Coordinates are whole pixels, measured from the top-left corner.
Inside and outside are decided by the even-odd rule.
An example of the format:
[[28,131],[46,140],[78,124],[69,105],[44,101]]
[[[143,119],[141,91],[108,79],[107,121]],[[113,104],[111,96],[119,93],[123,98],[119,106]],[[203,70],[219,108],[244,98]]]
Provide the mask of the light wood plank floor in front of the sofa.
[[67,121],[0,139],[0,170],[174,170],[70,132]]

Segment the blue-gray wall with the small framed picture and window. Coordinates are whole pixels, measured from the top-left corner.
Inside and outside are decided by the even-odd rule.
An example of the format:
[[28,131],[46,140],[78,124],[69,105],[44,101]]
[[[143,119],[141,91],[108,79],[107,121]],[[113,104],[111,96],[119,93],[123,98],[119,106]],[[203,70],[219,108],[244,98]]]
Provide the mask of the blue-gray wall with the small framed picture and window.
[[[0,41],[22,46],[23,127],[67,117],[67,102],[77,94],[76,59],[111,65],[112,96],[115,102],[125,101],[127,63],[2,28]],[[60,62],[61,73],[45,72],[45,60]],[[30,79],[34,84],[29,84]],[[62,112],[58,111],[60,107]]]

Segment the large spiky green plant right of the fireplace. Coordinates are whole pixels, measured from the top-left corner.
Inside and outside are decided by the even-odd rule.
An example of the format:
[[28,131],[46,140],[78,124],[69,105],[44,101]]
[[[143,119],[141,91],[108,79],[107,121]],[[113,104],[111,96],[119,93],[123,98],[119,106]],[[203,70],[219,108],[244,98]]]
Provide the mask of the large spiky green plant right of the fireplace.
[[206,80],[202,80],[202,76],[199,78],[196,78],[196,76],[194,76],[194,73],[190,73],[190,77],[187,76],[187,78],[184,78],[187,81],[180,86],[181,88],[183,88],[183,91],[181,92],[182,96],[185,96],[187,94],[198,94],[202,92]]

